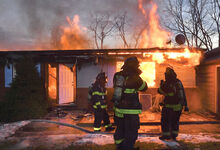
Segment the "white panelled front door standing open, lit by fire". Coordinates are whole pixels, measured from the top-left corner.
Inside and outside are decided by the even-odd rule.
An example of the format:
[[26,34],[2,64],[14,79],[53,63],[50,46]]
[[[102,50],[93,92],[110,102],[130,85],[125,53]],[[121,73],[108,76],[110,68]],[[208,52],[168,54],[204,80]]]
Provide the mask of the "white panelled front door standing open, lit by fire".
[[74,101],[74,73],[65,65],[59,65],[59,104]]

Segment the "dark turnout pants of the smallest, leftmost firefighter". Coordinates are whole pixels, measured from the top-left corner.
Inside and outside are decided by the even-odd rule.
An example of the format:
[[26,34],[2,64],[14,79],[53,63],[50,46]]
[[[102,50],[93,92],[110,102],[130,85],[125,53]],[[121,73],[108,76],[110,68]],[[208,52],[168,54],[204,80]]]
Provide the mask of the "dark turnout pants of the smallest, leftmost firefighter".
[[94,120],[94,130],[101,130],[101,123],[104,122],[105,127],[110,125],[110,120],[108,113],[105,108],[94,109],[95,120]]

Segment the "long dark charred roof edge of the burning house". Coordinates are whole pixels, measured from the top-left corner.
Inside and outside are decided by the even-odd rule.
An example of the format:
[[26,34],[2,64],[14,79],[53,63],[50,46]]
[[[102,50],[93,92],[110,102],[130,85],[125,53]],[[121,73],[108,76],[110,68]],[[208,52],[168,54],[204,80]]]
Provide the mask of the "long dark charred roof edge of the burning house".
[[[116,58],[136,55],[143,57],[144,53],[154,52],[183,52],[184,48],[138,48],[138,49],[85,49],[85,50],[16,50],[0,51],[0,58],[17,59],[21,56],[33,57],[39,62],[64,62],[71,63],[75,59]],[[201,49],[190,49],[201,51]]]

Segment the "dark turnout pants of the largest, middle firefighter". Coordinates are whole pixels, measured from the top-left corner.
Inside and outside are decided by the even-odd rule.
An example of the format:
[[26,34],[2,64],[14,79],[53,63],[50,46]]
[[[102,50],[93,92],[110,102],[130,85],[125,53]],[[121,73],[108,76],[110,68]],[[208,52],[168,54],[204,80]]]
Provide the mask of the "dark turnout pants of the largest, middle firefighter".
[[140,128],[139,115],[124,115],[123,118],[115,116],[117,126],[114,140],[117,150],[133,150]]

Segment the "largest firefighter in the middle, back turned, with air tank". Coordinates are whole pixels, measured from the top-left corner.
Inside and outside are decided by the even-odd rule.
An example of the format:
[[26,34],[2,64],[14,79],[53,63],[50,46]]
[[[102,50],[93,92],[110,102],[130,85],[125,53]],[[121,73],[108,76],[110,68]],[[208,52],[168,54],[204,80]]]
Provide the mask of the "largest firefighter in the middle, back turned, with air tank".
[[[134,150],[140,128],[139,114],[142,105],[138,91],[146,91],[148,86],[140,77],[141,70],[137,57],[129,57],[113,78],[114,121],[117,126],[114,140],[117,150]],[[138,149],[138,148],[136,148]]]

